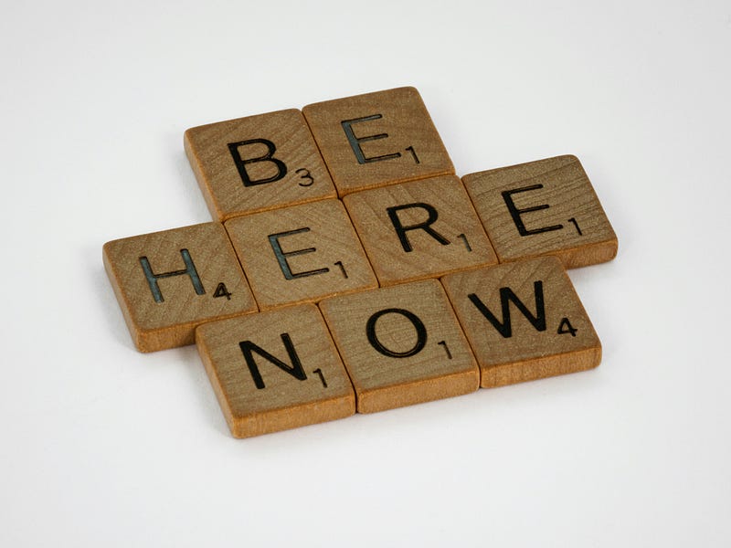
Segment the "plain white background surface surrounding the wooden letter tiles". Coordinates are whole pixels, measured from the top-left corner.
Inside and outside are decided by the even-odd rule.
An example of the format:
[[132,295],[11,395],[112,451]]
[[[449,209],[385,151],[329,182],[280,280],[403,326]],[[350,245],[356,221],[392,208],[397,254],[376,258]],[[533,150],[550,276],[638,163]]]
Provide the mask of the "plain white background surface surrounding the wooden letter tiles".
[[[0,7],[0,545],[728,546],[729,2]],[[588,373],[230,437],[101,265],[210,219],[202,123],[413,85],[457,173],[582,160]]]

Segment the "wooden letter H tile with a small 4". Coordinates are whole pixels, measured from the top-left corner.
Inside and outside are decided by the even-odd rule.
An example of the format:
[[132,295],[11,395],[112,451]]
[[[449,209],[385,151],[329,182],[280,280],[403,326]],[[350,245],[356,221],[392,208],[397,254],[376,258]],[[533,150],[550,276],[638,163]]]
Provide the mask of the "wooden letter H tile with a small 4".
[[257,311],[219,223],[107,242],[103,260],[142,352],[193,344],[196,325]]

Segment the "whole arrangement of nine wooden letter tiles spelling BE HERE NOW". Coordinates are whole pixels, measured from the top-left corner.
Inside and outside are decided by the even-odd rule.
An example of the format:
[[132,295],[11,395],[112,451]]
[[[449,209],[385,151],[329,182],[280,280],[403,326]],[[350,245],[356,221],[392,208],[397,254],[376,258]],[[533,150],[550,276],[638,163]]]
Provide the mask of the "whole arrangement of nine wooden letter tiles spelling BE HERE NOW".
[[140,351],[196,343],[233,436],[599,365],[565,269],[618,244],[575,156],[460,179],[414,88],[184,143],[217,220],[103,261]]

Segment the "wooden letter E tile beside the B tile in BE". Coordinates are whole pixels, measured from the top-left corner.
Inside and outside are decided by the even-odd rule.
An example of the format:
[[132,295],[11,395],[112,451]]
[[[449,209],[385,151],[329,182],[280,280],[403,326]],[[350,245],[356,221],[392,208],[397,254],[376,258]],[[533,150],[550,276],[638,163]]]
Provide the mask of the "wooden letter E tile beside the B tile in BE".
[[327,100],[302,109],[338,195],[454,174],[414,88]]

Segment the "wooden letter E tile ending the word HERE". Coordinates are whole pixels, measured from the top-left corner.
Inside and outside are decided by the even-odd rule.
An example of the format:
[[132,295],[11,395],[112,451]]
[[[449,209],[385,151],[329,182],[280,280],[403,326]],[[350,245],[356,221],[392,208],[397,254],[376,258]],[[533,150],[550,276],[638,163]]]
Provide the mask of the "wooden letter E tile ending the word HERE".
[[573,269],[617,255],[617,236],[576,156],[462,180],[501,262],[555,255]]

